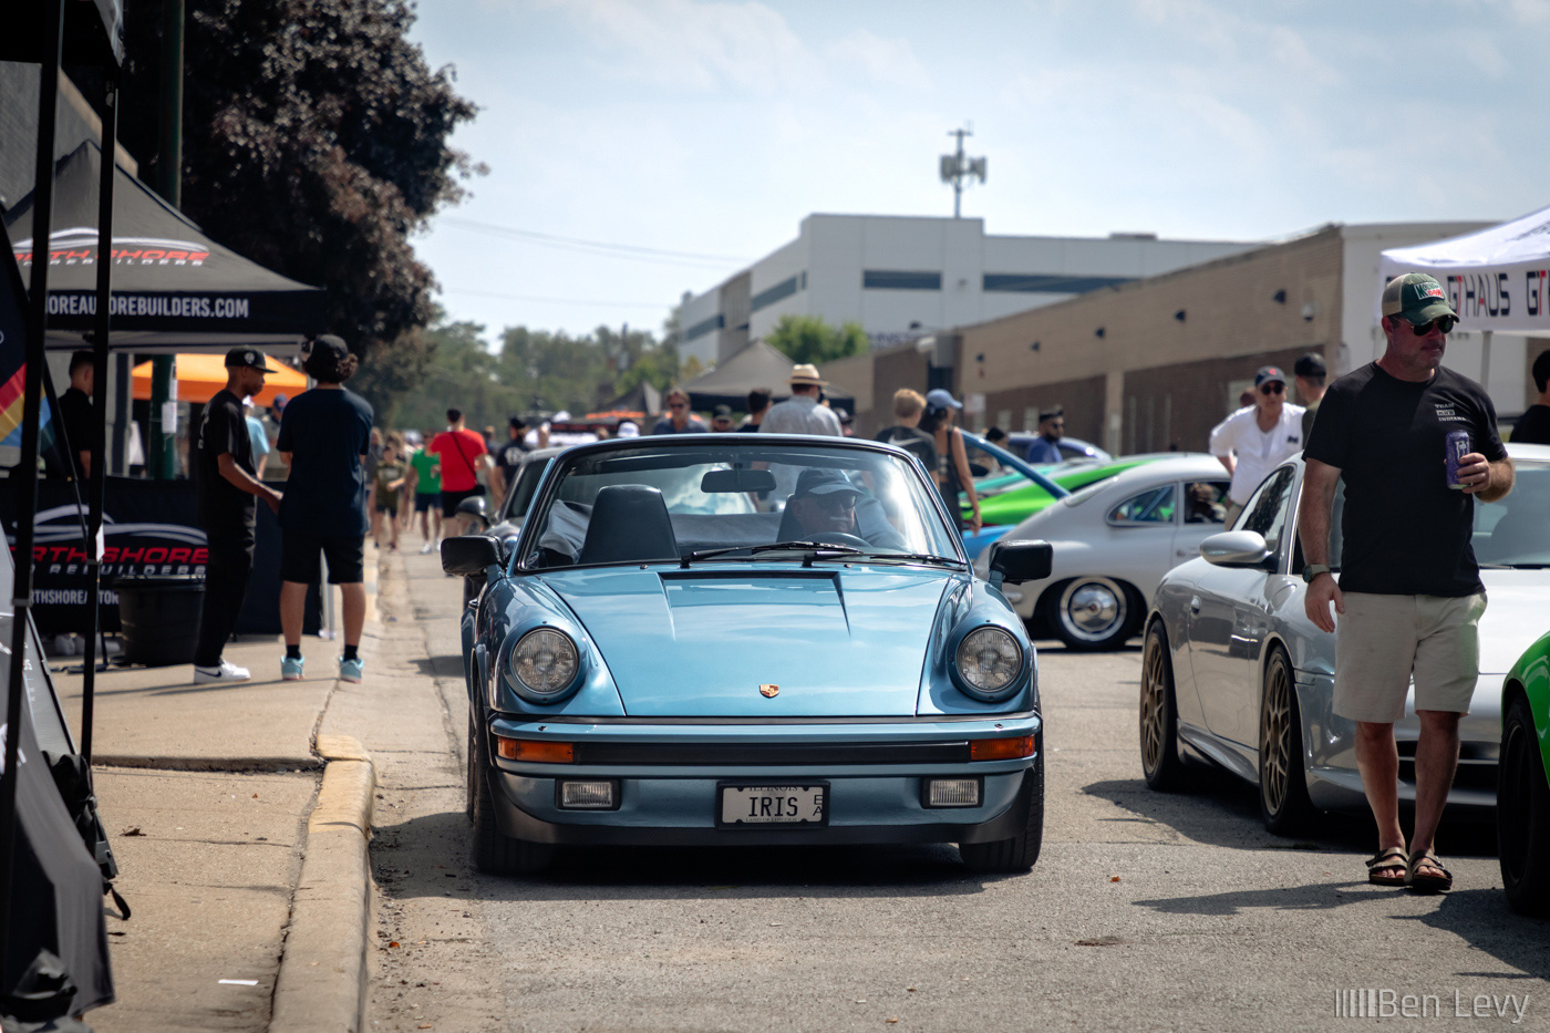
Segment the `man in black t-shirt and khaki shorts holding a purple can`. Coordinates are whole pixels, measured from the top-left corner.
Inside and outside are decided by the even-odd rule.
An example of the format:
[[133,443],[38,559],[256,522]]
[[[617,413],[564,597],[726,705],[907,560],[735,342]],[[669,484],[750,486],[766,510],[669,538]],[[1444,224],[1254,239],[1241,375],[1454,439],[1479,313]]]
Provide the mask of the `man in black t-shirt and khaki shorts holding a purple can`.
[[[1299,537],[1308,560],[1304,606],[1335,631],[1335,713],[1356,723],[1356,763],[1378,824],[1367,878],[1418,892],[1452,887],[1435,833],[1459,763],[1459,718],[1479,676],[1485,588],[1469,548],[1474,496],[1513,487],[1513,464],[1480,385],[1442,368],[1459,321],[1442,285],[1407,273],[1383,292],[1383,357],[1325,392],[1305,450]],[[1446,482],[1449,431],[1466,431],[1462,490]],[[1345,482],[1339,583],[1330,572],[1330,509]],[[1415,828],[1406,850],[1393,723],[1414,675]]]

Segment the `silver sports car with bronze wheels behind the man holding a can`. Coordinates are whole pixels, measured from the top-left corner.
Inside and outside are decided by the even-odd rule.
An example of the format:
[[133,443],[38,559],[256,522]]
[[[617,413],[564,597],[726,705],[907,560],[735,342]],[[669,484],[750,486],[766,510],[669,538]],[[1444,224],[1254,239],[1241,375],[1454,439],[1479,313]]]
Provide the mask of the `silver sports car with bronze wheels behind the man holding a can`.
[[[1490,605],[1480,619],[1480,679],[1459,726],[1449,808],[1496,805],[1502,682],[1544,633],[1550,599],[1550,447],[1507,445],[1511,495],[1476,503],[1472,548]],[[1271,831],[1290,833],[1318,810],[1366,810],[1356,727],[1333,710],[1335,634],[1308,620],[1299,571],[1302,459],[1276,467],[1234,529],[1201,543],[1203,558],[1169,571],[1147,614],[1141,664],[1141,768],[1153,788],[1178,785],[1184,763],[1207,760],[1259,785]],[[1339,569],[1336,492],[1330,557]],[[1056,544],[1056,557],[1060,546]],[[1400,799],[1415,799],[1414,700],[1393,727]]]

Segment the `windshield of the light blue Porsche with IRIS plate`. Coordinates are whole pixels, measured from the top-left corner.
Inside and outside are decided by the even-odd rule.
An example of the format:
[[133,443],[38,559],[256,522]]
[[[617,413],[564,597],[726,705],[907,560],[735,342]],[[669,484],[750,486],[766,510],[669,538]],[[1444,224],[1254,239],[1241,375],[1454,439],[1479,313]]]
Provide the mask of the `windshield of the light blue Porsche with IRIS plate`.
[[780,543],[840,557],[942,557],[956,532],[905,456],[800,444],[663,445],[556,459],[536,499],[522,566],[789,560]]

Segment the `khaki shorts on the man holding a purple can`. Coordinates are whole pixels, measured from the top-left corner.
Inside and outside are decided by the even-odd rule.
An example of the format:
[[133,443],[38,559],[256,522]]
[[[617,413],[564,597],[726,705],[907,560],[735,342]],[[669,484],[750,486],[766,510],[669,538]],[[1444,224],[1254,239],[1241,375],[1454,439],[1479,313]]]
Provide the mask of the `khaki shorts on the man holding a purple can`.
[[1415,679],[1417,710],[1469,712],[1480,675],[1485,593],[1373,596],[1345,593],[1335,634],[1335,712],[1390,724],[1404,717]]

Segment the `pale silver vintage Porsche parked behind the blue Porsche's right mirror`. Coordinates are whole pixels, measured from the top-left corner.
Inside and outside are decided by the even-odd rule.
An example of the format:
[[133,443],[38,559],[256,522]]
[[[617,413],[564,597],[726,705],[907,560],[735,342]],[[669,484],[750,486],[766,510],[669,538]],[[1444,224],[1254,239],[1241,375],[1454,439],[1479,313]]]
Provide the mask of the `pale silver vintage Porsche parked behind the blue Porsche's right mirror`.
[[[1118,648],[1141,628],[1162,575],[1224,529],[1231,478],[1215,456],[1181,453],[1133,467],[1046,506],[1006,532],[1051,543],[1049,577],[1008,586],[1025,620],[1076,650]],[[975,561],[989,574],[989,557]]]

